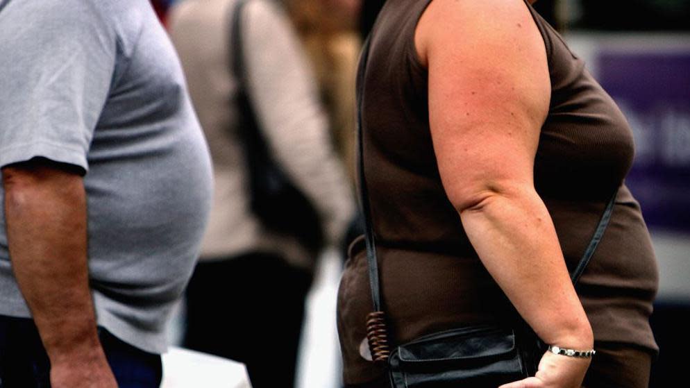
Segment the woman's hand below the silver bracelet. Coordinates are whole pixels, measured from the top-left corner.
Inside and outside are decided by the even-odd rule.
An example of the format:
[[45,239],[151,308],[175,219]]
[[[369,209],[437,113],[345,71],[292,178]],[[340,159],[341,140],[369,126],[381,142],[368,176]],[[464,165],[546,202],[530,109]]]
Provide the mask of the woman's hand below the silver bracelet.
[[535,377],[525,378],[498,388],[580,388],[591,358],[575,358],[544,353]]

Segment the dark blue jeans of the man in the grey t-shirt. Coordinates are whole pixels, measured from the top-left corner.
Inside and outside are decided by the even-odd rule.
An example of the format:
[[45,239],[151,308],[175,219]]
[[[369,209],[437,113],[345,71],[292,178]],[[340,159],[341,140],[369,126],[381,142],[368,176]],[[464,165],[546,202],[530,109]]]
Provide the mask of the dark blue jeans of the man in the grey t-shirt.
[[[146,353],[99,328],[119,388],[160,387],[160,355]],[[31,319],[0,315],[0,388],[49,388],[50,362]]]

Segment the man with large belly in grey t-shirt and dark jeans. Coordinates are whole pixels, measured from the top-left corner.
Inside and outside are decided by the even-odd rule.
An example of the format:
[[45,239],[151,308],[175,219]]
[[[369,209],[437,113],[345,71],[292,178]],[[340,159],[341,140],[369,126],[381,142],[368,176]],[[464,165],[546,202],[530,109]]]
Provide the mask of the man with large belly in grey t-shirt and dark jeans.
[[0,379],[160,384],[211,177],[148,1],[0,1],[0,167]]

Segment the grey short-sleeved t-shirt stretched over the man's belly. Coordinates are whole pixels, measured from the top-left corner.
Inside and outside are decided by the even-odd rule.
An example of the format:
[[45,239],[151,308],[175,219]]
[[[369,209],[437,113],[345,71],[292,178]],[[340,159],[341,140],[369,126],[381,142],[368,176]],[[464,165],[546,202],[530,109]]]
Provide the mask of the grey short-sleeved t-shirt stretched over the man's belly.
[[[35,157],[85,171],[99,325],[165,351],[212,178],[178,58],[149,1],[0,2],[0,166]],[[0,314],[30,316],[3,216]]]

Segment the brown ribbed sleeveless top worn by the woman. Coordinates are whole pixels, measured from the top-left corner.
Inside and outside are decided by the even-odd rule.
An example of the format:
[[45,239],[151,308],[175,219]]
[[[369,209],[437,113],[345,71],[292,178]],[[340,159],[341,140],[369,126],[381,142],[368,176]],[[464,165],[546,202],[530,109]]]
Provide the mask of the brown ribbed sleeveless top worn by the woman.
[[[363,78],[364,171],[384,309],[398,344],[459,324],[500,319],[510,310],[441,186],[429,130],[427,73],[414,46],[416,24],[429,3],[388,0],[371,35]],[[630,127],[584,62],[528,7],[544,37],[552,87],[535,160],[537,192],[573,269],[619,187],[612,220],[578,294],[596,341],[655,352],[649,316],[657,264],[639,204],[623,183],[634,155]],[[350,384],[380,374],[359,349],[371,312],[365,256],[360,239],[351,247],[339,290],[338,325]]]

